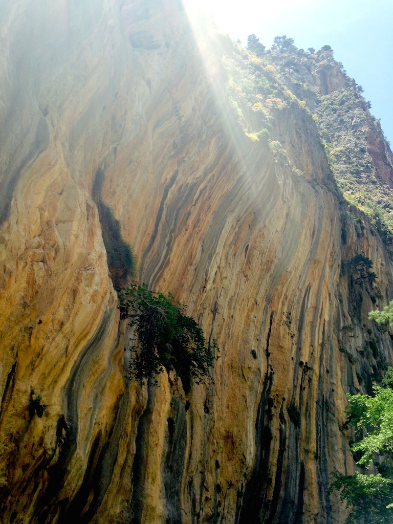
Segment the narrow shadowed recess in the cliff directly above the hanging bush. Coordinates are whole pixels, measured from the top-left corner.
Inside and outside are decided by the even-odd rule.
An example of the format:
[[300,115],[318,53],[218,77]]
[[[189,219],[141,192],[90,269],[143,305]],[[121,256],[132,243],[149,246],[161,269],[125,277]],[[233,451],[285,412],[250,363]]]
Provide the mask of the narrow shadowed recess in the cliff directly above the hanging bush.
[[102,169],[97,170],[92,188],[92,199],[99,211],[102,239],[106,249],[108,269],[112,277],[113,287],[118,291],[126,285],[128,276],[135,275],[136,259],[132,249],[122,238],[120,222],[113,216],[111,208],[101,200],[104,179],[104,171]]

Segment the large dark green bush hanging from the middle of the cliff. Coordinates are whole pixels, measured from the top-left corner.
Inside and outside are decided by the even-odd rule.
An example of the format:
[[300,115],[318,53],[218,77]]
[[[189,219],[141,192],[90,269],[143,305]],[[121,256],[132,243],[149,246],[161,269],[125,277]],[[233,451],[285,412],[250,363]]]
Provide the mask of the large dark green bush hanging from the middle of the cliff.
[[155,375],[164,368],[176,370],[184,390],[191,380],[200,384],[218,358],[214,340],[206,344],[198,324],[184,314],[185,306],[169,293],[150,291],[146,285],[133,285],[121,292],[122,307],[131,310],[130,325],[134,326],[138,344],[133,347],[130,377],[140,383],[157,380]]

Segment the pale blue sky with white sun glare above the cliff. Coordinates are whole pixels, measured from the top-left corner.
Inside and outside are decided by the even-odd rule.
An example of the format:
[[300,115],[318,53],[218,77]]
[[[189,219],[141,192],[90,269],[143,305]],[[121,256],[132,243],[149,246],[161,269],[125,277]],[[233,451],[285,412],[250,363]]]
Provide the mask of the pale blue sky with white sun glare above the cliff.
[[252,33],[267,48],[277,35],[294,38],[303,49],[330,45],[363,86],[393,146],[393,0],[204,1],[217,25],[244,45]]

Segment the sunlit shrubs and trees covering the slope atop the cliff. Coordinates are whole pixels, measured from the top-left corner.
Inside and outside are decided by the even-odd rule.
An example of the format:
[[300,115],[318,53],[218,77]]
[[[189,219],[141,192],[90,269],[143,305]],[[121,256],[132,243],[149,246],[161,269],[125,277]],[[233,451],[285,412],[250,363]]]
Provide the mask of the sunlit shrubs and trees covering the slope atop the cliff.
[[362,86],[334,60],[332,48],[305,51],[286,35],[277,36],[269,50],[256,35],[248,36],[246,49],[222,34],[215,43],[221,50],[227,99],[246,135],[268,140],[275,155],[285,156],[276,129],[280,114],[304,111],[304,121],[319,134],[344,209],[355,206],[363,212],[391,245],[393,187],[384,171],[393,169],[393,156]]

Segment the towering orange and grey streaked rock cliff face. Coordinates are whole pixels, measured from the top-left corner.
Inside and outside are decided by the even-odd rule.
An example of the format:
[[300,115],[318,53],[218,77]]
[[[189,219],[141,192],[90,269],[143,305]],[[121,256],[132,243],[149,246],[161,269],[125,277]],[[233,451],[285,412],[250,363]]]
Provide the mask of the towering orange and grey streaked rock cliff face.
[[[330,56],[303,64],[300,100],[288,63],[254,57],[279,86],[251,100],[225,77],[245,51],[217,43],[206,63],[175,0],[0,12],[3,521],[341,523],[327,489],[354,471],[345,392],[392,359],[367,320],[376,285],[345,261],[363,253],[393,293],[389,249],[346,208],[312,117],[345,75]],[[217,339],[187,395],[173,372],[127,378],[103,206],[139,281]]]

